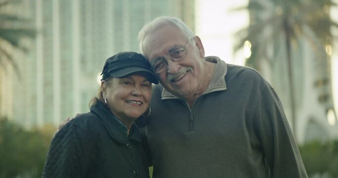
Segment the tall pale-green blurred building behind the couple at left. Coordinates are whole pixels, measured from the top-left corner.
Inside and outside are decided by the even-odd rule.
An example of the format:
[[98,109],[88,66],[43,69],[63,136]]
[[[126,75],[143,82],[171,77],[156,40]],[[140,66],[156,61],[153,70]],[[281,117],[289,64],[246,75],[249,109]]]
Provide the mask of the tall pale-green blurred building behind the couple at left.
[[193,0],[22,0],[12,13],[32,19],[36,38],[14,54],[21,78],[0,71],[0,116],[27,128],[89,111],[105,60],[139,51],[138,32],[157,16],[194,27]]

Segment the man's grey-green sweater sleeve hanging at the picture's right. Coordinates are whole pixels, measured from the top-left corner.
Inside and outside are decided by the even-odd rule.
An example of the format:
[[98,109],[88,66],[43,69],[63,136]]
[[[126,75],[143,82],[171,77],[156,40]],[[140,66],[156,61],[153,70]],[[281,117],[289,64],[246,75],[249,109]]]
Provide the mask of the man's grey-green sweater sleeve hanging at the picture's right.
[[307,178],[282,103],[269,84],[261,91],[253,123],[271,178]]

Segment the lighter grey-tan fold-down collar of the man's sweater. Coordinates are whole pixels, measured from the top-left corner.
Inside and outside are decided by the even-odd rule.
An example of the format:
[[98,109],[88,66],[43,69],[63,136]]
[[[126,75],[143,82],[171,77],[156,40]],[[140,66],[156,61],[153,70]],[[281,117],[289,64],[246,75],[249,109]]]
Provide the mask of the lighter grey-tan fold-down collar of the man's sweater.
[[[206,61],[216,63],[216,67],[212,75],[210,84],[205,89],[203,94],[214,92],[214,91],[226,90],[227,84],[225,83],[225,75],[227,74],[227,70],[228,70],[227,64],[217,56],[207,56],[204,59]],[[161,99],[174,99],[174,98],[179,98],[179,97],[175,96],[174,94],[170,93],[169,91],[163,88]]]

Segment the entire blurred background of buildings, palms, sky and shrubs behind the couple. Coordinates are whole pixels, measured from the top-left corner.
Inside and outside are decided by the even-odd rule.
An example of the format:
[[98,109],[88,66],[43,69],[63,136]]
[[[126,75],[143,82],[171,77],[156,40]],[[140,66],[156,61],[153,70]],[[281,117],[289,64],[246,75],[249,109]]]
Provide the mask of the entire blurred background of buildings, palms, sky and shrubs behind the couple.
[[157,16],[181,18],[206,55],[258,70],[309,177],[338,178],[337,3],[0,0],[0,178],[41,177],[55,128],[89,111],[106,58],[140,52],[138,32]]

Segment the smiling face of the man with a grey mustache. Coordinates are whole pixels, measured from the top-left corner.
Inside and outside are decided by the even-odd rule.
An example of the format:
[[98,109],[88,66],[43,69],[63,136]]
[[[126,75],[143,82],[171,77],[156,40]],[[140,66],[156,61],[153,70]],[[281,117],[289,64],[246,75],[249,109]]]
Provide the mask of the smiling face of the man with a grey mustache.
[[[187,54],[179,61],[169,56],[165,59],[166,66],[156,72],[160,83],[169,92],[184,99],[193,98],[193,95],[203,88],[204,49],[198,37],[193,40],[187,38],[176,27],[167,25],[155,30],[145,39],[147,41],[146,55],[150,63],[158,58],[167,56],[171,51],[185,48]],[[205,77],[205,76],[204,76]]]

